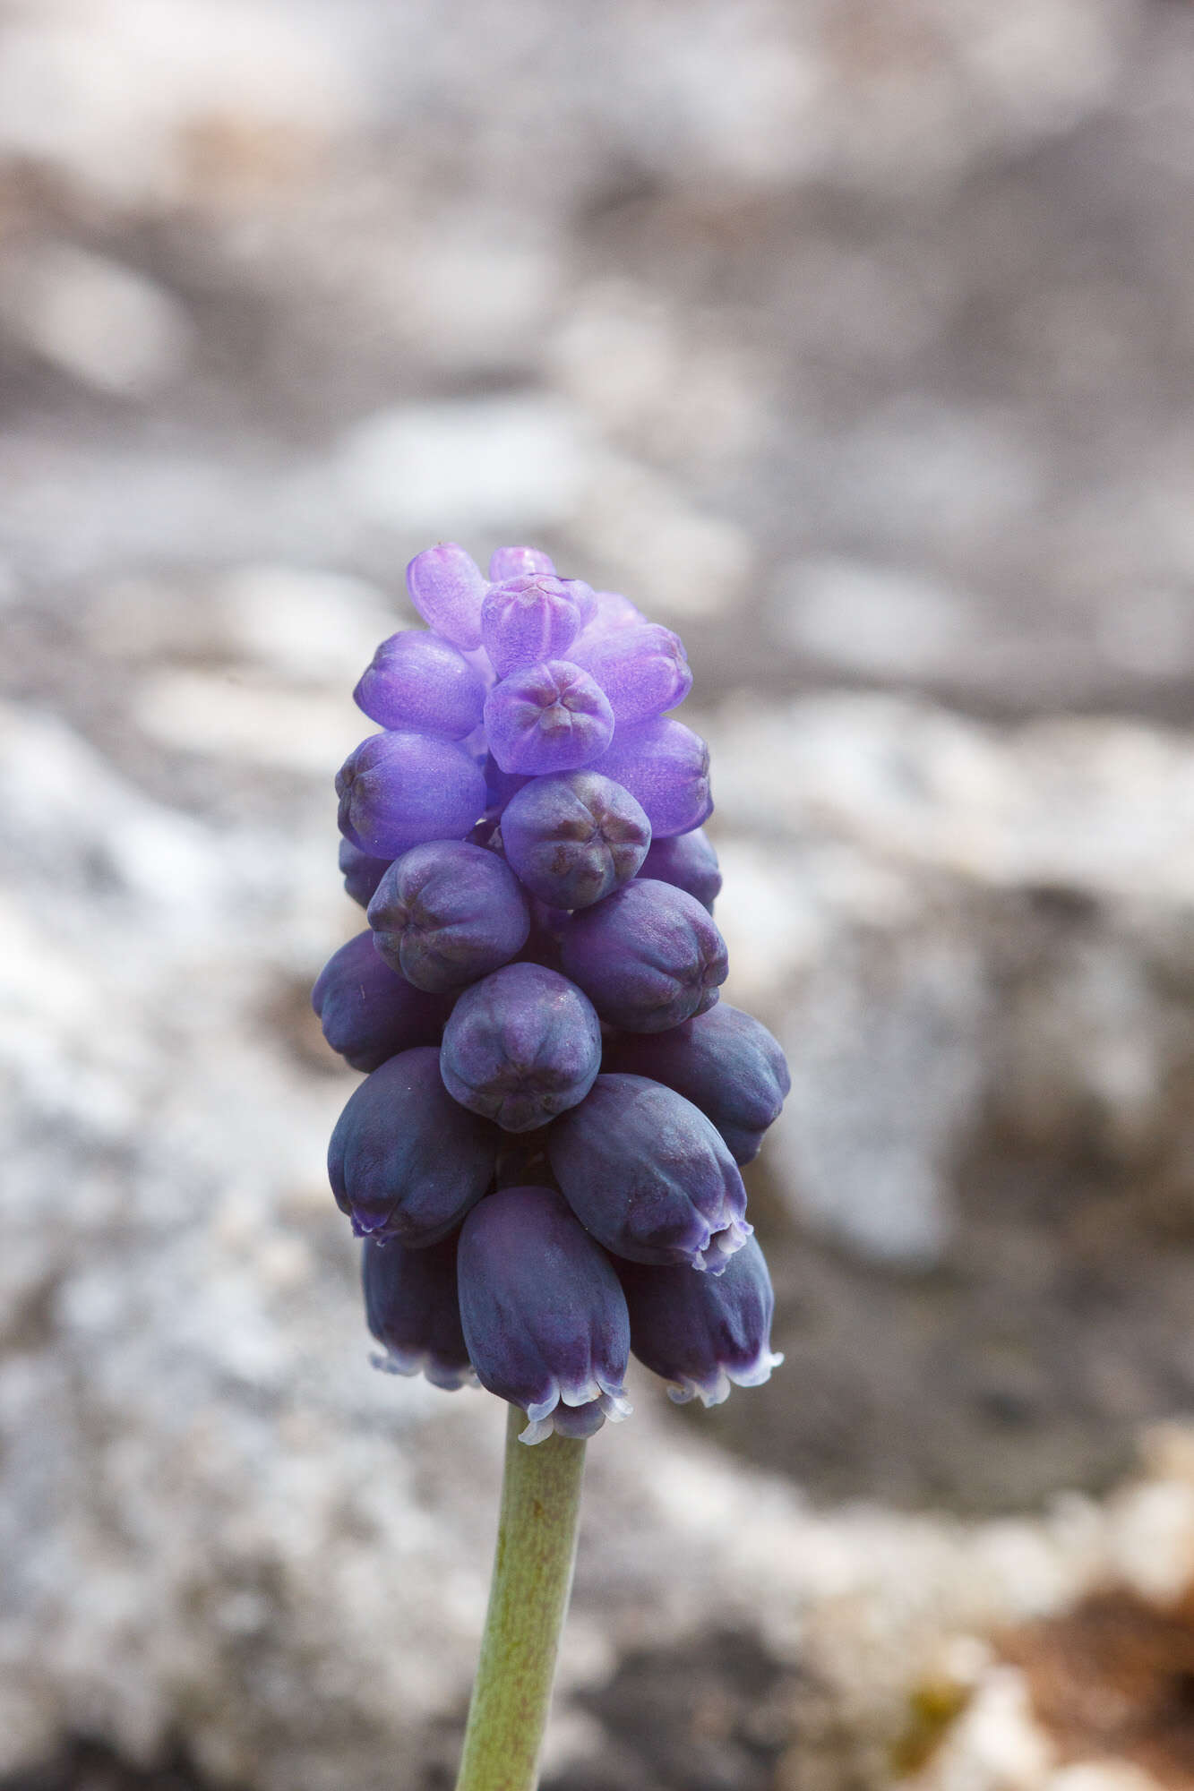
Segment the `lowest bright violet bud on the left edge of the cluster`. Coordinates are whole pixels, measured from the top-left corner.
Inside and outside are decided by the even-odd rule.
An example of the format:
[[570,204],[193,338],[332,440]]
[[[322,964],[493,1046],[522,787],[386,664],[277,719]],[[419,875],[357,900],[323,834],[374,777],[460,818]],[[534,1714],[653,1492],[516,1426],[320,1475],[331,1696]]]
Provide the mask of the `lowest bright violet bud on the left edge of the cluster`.
[[423,840],[463,840],[486,806],[480,767],[452,740],[371,734],[335,779],[341,833],[371,858]]

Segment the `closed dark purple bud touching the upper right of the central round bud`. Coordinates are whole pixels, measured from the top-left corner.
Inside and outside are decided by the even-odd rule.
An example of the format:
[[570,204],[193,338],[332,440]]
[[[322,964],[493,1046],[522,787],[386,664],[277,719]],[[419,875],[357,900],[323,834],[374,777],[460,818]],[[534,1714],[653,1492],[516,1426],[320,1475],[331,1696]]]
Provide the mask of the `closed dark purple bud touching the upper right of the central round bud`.
[[701,903],[635,878],[563,930],[559,962],[611,1026],[667,1032],[717,1001],[726,942]]

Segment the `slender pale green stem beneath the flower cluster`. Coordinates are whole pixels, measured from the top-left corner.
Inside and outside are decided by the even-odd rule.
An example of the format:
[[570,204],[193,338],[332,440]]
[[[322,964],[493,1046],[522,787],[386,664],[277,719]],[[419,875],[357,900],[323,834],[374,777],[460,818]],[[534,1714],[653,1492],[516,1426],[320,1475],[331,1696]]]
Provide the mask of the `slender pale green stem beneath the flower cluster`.
[[511,1406],[489,1610],[455,1791],[534,1791],[540,1782],[572,1590],[584,1444],[568,1436],[520,1444],[525,1422]]

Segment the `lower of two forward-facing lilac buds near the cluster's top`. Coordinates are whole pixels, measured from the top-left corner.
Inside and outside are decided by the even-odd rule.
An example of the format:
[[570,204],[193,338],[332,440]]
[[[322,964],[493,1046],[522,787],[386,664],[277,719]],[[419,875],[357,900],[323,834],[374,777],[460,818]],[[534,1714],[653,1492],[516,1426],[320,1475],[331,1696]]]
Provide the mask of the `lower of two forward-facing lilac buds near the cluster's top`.
[[613,709],[588,672],[549,659],[493,686],[486,731],[504,772],[572,772],[601,758],[613,740]]

